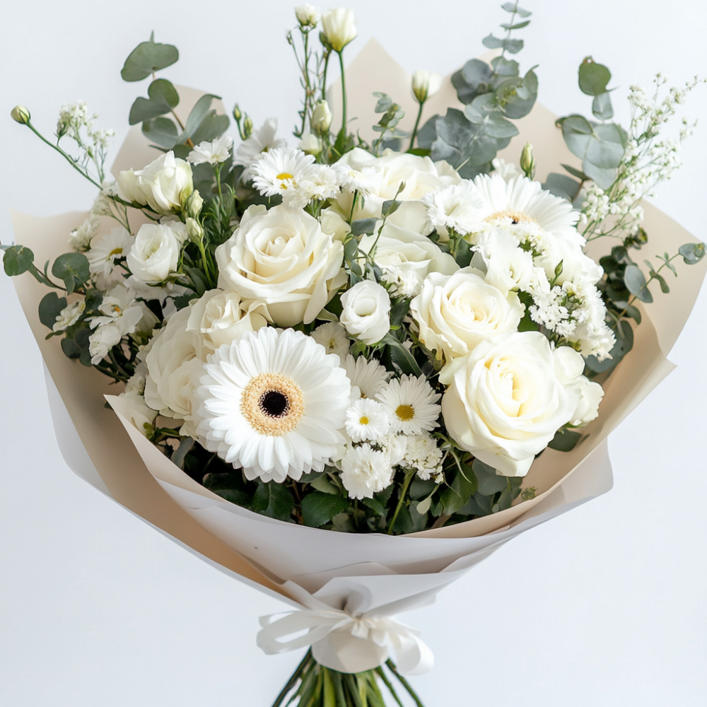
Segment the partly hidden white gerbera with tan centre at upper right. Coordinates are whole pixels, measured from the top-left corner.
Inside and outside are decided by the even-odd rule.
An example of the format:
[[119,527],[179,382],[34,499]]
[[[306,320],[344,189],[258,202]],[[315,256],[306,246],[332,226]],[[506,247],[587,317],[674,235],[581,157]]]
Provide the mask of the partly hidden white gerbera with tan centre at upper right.
[[491,226],[530,223],[559,238],[578,238],[578,211],[566,199],[546,192],[540,182],[513,177],[508,183],[498,174],[479,175],[474,187],[482,199],[479,221]]

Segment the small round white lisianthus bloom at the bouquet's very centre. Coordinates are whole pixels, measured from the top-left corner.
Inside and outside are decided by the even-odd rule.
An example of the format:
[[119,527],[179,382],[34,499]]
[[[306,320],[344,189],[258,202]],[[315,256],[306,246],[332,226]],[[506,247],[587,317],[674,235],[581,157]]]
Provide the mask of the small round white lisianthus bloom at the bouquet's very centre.
[[341,295],[341,324],[352,337],[369,346],[390,332],[390,298],[373,280],[357,282]]

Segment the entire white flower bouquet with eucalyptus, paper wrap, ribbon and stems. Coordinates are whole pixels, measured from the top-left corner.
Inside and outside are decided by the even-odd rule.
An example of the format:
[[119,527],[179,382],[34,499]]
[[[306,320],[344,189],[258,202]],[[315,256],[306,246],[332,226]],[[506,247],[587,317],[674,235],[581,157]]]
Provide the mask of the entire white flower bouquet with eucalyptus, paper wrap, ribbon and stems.
[[[510,58],[530,13],[503,8],[489,63],[414,74],[411,131],[395,96],[373,94],[371,139],[347,119],[377,79],[344,72],[351,11],[296,8],[296,147],[238,106],[235,144],[218,96],[156,77],[178,52],[151,38],[122,70],[151,83],[115,180],[110,131],[64,106],[56,141],[40,137],[98,197],[83,222],[41,235],[18,217],[26,245],[3,246],[6,273],[34,277],[18,292],[39,310],[28,318],[69,464],[295,605],[258,638],[269,653],[311,646],[275,705],[382,705],[392,680],[420,704],[403,674],[428,670],[431,652],[391,617],[608,489],[604,440],[669,370],[701,283],[694,268],[679,316],[657,303],[648,319],[676,264],[704,255],[642,204],[679,165],[661,131],[696,81],[665,98],[660,77],[653,99],[632,88],[624,129],[609,69],[587,58],[592,117],[557,120],[566,148],[544,143],[537,76]],[[334,61],[341,84],[327,88]],[[39,135],[27,108],[12,115]],[[565,173],[534,181],[536,163]],[[665,255],[644,269],[648,243]],[[119,393],[112,410],[105,392]]]

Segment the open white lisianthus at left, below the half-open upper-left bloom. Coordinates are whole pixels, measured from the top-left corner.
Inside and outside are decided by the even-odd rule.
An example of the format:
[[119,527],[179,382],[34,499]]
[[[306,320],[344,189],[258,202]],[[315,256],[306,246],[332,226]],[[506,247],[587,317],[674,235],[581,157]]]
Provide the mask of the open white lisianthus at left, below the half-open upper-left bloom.
[[145,223],[127,254],[127,267],[143,282],[163,282],[177,269],[187,238],[187,228],[179,221]]

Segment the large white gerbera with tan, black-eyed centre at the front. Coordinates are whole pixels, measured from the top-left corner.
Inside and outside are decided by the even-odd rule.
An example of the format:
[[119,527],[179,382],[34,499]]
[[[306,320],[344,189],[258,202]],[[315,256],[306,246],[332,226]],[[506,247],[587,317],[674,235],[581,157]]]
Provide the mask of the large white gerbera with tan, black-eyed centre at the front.
[[263,327],[207,360],[197,416],[209,450],[248,479],[281,483],[324,469],[351,394],[337,357],[302,332]]

